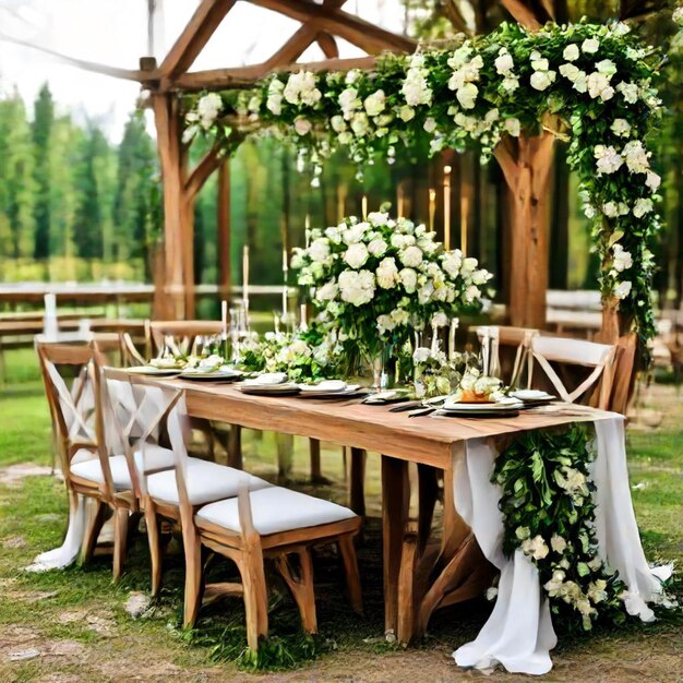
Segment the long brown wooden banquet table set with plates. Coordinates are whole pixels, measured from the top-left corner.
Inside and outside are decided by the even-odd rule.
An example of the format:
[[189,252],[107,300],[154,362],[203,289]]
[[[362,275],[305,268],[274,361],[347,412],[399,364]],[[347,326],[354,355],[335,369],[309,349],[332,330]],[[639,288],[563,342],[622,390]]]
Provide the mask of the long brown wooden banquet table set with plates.
[[[503,419],[409,418],[391,406],[314,398],[253,396],[218,383],[145,378],[182,387],[191,417],[308,436],[382,454],[382,536],[385,632],[409,643],[441,607],[481,595],[493,566],[456,512],[453,475],[468,440],[505,440],[522,431],[594,421],[602,411],[567,407]],[[409,464],[417,477],[409,476]],[[443,478],[441,529],[432,529]],[[411,482],[411,479],[417,481]],[[362,567],[361,567],[362,571]]]

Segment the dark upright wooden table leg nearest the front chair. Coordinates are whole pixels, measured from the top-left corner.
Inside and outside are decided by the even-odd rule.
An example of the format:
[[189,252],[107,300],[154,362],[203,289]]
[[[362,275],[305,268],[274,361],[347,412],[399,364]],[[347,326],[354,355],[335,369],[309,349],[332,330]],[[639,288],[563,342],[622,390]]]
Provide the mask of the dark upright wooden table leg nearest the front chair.
[[[382,456],[382,544],[384,553],[384,631],[398,631],[398,575],[410,486],[408,463]],[[411,620],[410,615],[403,619]]]

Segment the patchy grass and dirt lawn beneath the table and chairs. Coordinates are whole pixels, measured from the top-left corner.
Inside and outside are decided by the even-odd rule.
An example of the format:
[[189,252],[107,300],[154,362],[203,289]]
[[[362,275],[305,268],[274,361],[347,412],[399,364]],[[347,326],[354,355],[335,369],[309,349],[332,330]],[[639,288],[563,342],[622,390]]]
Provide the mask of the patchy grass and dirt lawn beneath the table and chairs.
[[[350,610],[342,590],[336,559],[316,560],[320,656],[290,672],[247,673],[235,663],[243,646],[243,611],[239,601],[209,608],[194,632],[178,628],[182,561],[166,563],[165,589],[158,604],[133,620],[124,607],[132,591],[148,588],[146,540],[140,536],[127,572],[111,584],[110,558],[86,568],[41,575],[21,568],[40,551],[61,542],[67,516],[63,484],[48,476],[8,481],[19,464],[49,466],[50,422],[43,387],[31,352],[8,359],[8,384],[0,388],[0,682],[89,681],[458,681],[469,680],[453,666],[451,651],[471,639],[486,620],[487,604],[472,601],[439,612],[430,635],[417,647],[402,649],[382,639],[381,539],[370,519],[360,550],[367,588],[367,613]],[[683,406],[671,386],[654,386],[649,407],[664,414],[657,429],[630,431],[633,500],[648,556],[683,559]],[[253,433],[244,438],[245,466],[274,479],[275,440]],[[369,511],[379,511],[379,458],[370,456]],[[323,450],[324,472],[335,484],[305,486],[307,443],[298,440],[295,486],[344,500],[339,448]],[[211,572],[227,576],[221,562]],[[680,591],[679,591],[680,592]],[[298,620],[287,592],[277,587],[272,631],[287,643]],[[600,630],[587,637],[561,638],[553,655],[552,681],[683,681],[683,620],[680,612],[655,625]],[[278,643],[275,638],[275,644]],[[302,646],[308,644],[299,638]],[[25,659],[19,659],[20,656]],[[293,652],[295,657],[302,656]],[[527,680],[496,673],[494,681]]]

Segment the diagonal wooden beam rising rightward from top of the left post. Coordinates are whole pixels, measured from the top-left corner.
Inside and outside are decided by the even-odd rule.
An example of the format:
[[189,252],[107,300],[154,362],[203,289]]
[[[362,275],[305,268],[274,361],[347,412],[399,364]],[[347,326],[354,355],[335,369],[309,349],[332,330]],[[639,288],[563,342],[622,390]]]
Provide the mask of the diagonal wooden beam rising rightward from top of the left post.
[[159,75],[171,81],[185,72],[237,0],[202,0],[173,47],[159,67]]

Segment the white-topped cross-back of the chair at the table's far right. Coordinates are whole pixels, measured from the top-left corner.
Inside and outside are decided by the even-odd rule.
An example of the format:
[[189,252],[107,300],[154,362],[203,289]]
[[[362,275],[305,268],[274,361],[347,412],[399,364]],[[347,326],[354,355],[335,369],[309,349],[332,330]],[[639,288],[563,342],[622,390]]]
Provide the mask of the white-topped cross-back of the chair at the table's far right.
[[[560,398],[567,403],[576,403],[592,390],[589,397],[591,405],[603,410],[608,410],[610,406],[615,350],[612,345],[565,337],[539,335],[531,340],[534,360],[540,366]],[[551,363],[590,368],[591,371],[578,386],[570,391]]]

